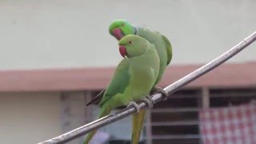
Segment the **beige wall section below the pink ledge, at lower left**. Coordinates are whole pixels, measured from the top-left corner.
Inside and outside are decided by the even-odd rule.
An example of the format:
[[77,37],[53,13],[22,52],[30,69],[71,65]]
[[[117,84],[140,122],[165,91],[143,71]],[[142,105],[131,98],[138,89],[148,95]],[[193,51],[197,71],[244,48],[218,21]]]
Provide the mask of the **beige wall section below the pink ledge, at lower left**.
[[36,143],[62,134],[58,93],[0,94],[0,143]]

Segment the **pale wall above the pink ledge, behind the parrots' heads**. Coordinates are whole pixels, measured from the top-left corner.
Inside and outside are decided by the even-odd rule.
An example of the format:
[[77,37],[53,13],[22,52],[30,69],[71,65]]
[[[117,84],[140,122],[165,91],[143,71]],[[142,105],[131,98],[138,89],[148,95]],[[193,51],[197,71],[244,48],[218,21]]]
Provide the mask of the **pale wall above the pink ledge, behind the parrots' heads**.
[[[115,18],[161,31],[174,47],[172,63],[208,62],[251,34],[256,1],[23,0],[0,2],[0,70],[116,66],[108,34]],[[256,44],[230,62],[256,60]]]

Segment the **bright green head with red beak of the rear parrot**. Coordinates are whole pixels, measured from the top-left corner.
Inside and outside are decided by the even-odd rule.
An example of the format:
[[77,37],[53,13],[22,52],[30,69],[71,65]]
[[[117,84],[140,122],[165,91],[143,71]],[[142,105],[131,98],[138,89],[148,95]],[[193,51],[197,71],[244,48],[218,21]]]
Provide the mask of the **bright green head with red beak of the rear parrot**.
[[109,27],[109,32],[114,38],[120,40],[128,34],[136,34],[135,26],[123,19],[114,20]]

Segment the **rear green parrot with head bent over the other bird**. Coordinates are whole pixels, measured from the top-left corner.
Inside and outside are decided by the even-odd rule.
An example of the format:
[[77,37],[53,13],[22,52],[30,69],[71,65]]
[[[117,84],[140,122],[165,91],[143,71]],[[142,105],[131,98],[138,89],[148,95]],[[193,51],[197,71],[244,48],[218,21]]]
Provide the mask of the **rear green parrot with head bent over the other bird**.
[[[112,22],[109,27],[109,33],[118,40],[127,34],[136,34],[142,38],[145,38],[150,43],[154,44],[160,58],[160,69],[158,78],[154,82],[154,87],[151,90],[151,93],[155,93],[156,91],[158,91],[167,98],[168,94],[166,94],[166,91],[162,90],[162,88],[156,85],[158,84],[158,82],[161,81],[162,76],[166,70],[166,66],[169,65],[172,58],[172,47],[170,45],[170,41],[164,35],[158,32],[154,32],[139,26],[133,26],[123,19],[118,19]],[[133,144],[139,142],[145,115],[146,110],[141,110],[138,114],[134,114],[132,127]]]

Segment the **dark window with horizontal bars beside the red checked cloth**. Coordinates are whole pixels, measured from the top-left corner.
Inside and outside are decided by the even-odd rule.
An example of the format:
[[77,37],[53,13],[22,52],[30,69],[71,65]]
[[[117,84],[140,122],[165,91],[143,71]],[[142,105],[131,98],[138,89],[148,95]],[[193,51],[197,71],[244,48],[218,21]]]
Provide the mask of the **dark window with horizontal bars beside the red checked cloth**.
[[[252,88],[178,90],[168,100],[157,103],[147,112],[140,144],[202,143],[199,110],[203,107],[240,105],[252,99],[256,100],[256,89]],[[130,143],[131,116],[101,130],[111,135],[110,144]]]

